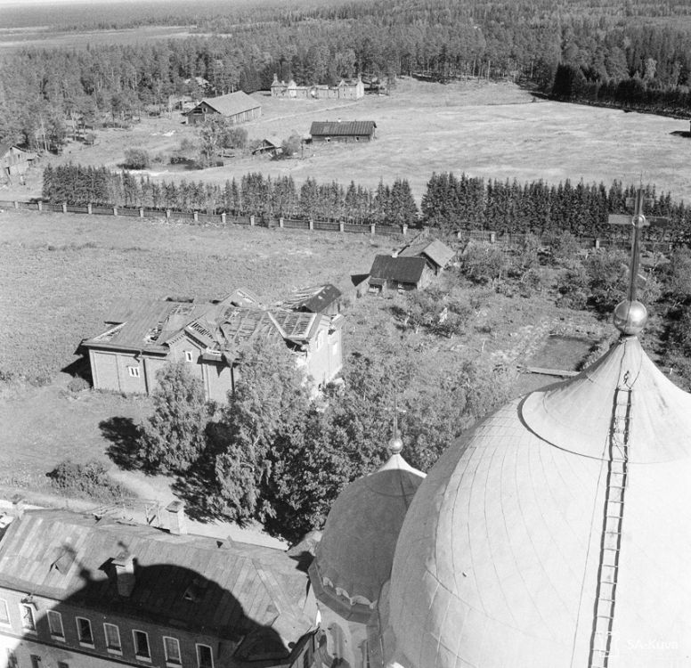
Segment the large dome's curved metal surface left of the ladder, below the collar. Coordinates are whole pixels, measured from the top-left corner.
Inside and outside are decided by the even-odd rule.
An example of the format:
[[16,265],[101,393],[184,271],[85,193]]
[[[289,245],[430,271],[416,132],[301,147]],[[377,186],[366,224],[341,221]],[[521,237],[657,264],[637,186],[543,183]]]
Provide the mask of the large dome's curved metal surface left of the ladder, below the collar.
[[534,668],[571,656],[584,577],[594,591],[601,463],[544,444],[517,411],[509,404],[446,452],[403,524],[391,620],[415,668],[515,668],[525,648]]

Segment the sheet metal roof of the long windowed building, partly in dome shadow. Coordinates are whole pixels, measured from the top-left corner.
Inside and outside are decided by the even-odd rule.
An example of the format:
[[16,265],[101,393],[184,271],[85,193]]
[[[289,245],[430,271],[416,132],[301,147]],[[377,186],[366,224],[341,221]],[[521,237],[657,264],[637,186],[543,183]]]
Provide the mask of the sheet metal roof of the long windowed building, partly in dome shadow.
[[[128,598],[118,595],[112,566],[124,550],[136,560]],[[311,626],[306,576],[281,550],[219,547],[65,510],[28,510],[12,522],[0,542],[0,585],[222,638],[251,634],[274,648],[277,639],[288,648]]]

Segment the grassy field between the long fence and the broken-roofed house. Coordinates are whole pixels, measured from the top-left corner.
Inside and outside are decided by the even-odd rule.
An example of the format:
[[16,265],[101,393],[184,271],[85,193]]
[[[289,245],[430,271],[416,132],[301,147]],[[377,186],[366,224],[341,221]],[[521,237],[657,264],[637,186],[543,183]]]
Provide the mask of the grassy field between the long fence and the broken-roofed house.
[[275,300],[317,282],[347,287],[391,240],[213,228],[92,216],[0,214],[0,370],[53,374],[102,329],[114,297],[219,297],[240,286]]

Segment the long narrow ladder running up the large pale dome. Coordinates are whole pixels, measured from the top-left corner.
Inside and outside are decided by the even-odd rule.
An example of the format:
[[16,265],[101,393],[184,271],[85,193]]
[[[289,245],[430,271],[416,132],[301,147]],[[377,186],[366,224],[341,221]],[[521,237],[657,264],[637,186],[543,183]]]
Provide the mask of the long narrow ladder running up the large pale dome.
[[605,496],[605,517],[600,539],[598,590],[595,619],[590,637],[589,668],[607,668],[612,649],[612,626],[622,548],[624,495],[629,476],[631,388],[623,383],[614,393],[614,411],[609,435],[609,460]]

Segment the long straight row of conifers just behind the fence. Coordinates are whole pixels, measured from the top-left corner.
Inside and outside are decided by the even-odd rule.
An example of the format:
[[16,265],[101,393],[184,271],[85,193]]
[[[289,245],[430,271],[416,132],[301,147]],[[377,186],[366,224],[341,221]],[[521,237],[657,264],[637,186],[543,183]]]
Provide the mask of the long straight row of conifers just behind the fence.
[[[234,216],[286,217],[356,224],[427,224],[444,233],[488,230],[498,233],[571,232],[576,236],[609,238],[617,231],[607,223],[610,213],[626,213],[633,185],[604,183],[557,184],[542,180],[529,183],[500,181],[451,172],[433,173],[418,208],[406,179],[375,190],[351,181],[318,183],[307,178],[299,187],[291,176],[271,178],[261,173],[243,175],[224,184],[193,181],[157,182],[132,172],[111,172],[106,167],[64,165],[45,167],[43,199],[120,207],[143,207],[227,212]],[[670,223],[657,238],[688,243],[691,211],[670,193],[646,188],[646,214],[667,216]],[[620,230],[620,234],[628,234]]]

